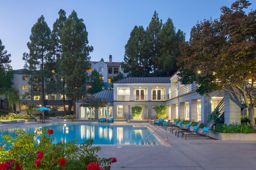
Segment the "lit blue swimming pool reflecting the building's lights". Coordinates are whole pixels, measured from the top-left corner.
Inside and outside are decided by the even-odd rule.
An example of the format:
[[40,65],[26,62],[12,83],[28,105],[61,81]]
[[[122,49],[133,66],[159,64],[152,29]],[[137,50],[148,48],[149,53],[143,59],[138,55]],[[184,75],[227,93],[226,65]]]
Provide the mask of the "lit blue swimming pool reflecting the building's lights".
[[[15,135],[15,129],[23,129],[25,132],[35,132],[42,127],[15,127],[9,129],[1,129],[0,134]],[[132,126],[115,126],[115,125],[98,125],[98,124],[77,124],[77,123],[58,123],[50,126],[43,126],[46,129],[53,129],[51,135],[54,138],[53,143],[60,140],[68,142],[78,139],[81,144],[84,140],[93,139],[93,144],[143,144],[142,140],[150,135],[150,131],[146,127]],[[1,140],[1,139],[0,139]],[[36,139],[39,143],[40,140]],[[150,144],[161,144],[154,135],[150,136]],[[154,141],[154,142],[153,142]]]

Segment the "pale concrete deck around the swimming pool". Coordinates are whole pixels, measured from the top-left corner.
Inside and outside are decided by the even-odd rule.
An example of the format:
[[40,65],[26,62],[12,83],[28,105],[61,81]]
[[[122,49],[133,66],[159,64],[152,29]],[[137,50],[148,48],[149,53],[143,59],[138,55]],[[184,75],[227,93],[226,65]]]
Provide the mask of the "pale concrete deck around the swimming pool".
[[[96,123],[97,124],[97,123]],[[17,123],[7,126],[38,125]],[[113,125],[158,126],[149,123],[114,122]],[[256,141],[223,141],[198,135],[187,140],[160,128],[156,131],[163,145],[100,145],[99,157],[117,157],[111,170],[255,170]]]

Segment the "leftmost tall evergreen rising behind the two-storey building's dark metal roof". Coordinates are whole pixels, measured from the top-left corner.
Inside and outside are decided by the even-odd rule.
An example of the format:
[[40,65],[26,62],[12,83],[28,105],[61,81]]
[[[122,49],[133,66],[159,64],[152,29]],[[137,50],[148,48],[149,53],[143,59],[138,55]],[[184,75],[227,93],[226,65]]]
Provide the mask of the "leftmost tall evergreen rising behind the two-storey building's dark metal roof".
[[149,67],[148,47],[146,46],[146,32],[143,26],[135,26],[130,38],[124,46],[124,62],[121,63],[128,76],[148,76]]

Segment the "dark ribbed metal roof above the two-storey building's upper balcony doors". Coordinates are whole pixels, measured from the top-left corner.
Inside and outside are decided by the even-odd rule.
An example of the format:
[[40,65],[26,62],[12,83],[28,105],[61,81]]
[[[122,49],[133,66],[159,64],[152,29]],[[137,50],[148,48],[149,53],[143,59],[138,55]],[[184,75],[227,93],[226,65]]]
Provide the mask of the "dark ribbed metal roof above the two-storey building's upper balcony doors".
[[127,77],[113,83],[171,83],[170,77]]

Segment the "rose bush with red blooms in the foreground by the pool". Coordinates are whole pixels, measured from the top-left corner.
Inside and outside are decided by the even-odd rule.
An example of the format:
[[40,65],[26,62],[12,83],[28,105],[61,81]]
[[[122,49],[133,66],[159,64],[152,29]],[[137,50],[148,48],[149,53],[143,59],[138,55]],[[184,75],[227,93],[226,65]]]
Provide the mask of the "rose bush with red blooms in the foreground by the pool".
[[[15,131],[15,137],[2,135],[0,142],[0,170],[110,170],[116,158],[99,158],[99,146],[93,140],[77,144],[77,140],[52,144],[52,129],[35,133]],[[37,140],[40,142],[37,143]]]

